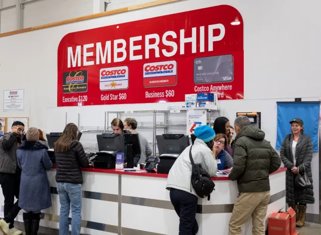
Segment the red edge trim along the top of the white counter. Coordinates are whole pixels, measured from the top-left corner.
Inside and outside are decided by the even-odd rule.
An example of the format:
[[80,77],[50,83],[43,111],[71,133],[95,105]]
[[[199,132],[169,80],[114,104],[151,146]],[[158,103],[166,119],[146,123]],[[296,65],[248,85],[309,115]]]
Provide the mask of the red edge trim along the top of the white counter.
[[[56,166],[53,166],[53,168],[56,168]],[[94,169],[94,168],[81,168],[82,171],[88,171],[88,172],[98,172],[98,173],[106,173],[106,174],[119,174],[119,175],[135,175],[135,176],[147,176],[147,177],[156,177],[156,178],[167,178],[167,174],[158,174],[158,173],[148,173],[148,172],[130,172],[130,171],[119,171],[115,169]],[[280,173],[286,171],[285,167],[279,168],[277,171],[272,173],[271,175]],[[212,180],[230,180],[229,177],[212,177]]]

